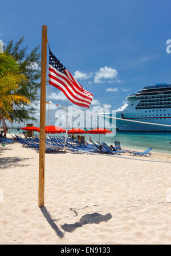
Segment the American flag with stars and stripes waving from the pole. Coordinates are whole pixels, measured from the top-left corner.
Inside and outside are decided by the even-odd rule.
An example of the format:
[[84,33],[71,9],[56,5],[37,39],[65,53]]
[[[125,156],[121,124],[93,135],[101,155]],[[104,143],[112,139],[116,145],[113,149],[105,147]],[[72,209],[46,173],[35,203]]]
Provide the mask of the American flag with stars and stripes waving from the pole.
[[50,85],[61,90],[74,104],[89,107],[93,95],[76,81],[70,71],[52,54],[49,49],[48,79]]

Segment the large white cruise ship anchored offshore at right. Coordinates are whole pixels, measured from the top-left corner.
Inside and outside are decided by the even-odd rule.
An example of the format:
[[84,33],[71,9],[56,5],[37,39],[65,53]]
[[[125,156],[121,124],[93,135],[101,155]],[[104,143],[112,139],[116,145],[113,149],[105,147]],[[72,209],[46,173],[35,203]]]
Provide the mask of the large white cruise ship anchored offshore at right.
[[[120,131],[171,131],[171,85],[156,83],[127,97],[116,110],[116,127]],[[124,119],[141,121],[129,122]],[[156,123],[160,125],[152,125]],[[169,126],[162,126],[169,125]]]

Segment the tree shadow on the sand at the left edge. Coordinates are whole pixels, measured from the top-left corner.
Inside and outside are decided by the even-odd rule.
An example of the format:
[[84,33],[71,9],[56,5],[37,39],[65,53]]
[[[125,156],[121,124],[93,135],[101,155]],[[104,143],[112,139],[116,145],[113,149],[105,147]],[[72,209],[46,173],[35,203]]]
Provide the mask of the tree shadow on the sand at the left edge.
[[28,165],[20,165],[19,162],[25,161],[30,158],[20,158],[20,157],[2,157],[0,158],[0,169],[6,169],[11,166],[28,166]]

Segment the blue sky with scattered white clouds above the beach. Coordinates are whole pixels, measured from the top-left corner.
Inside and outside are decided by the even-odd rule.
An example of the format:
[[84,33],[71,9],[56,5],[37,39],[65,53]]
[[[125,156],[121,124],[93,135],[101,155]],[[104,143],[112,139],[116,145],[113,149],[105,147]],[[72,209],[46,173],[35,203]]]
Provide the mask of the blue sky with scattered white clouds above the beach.
[[[47,25],[51,51],[94,95],[91,110],[115,110],[144,86],[171,83],[170,7],[167,0],[3,1],[0,39],[25,35],[31,50]],[[50,95],[51,102],[68,105],[55,87]]]

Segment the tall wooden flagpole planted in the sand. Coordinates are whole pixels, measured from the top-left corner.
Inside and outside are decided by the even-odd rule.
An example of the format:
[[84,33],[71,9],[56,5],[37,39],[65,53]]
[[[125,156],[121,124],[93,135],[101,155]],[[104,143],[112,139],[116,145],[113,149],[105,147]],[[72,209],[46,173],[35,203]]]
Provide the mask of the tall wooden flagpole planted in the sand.
[[46,122],[46,61],[47,61],[47,26],[42,26],[41,87],[40,87],[40,137],[39,137],[39,203],[44,206],[44,154]]

